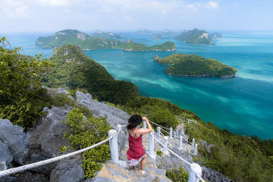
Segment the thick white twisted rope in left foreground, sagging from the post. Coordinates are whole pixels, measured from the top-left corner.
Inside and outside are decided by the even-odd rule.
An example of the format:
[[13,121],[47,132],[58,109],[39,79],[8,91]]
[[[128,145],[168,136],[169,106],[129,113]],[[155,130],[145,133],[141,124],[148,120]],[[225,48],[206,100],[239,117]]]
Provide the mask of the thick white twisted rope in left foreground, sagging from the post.
[[56,162],[56,161],[59,161],[61,159],[64,159],[64,158],[67,158],[67,157],[70,157],[70,156],[73,156],[73,155],[76,155],[76,154],[79,154],[79,153],[83,153],[83,152],[85,152],[87,150],[90,150],[90,149],[92,149],[94,147],[99,146],[100,144],[103,144],[103,143],[107,142],[111,138],[113,138],[113,136],[110,136],[109,138],[107,138],[107,139],[105,139],[105,140],[103,140],[103,141],[101,141],[99,143],[96,143],[96,144],[94,144],[92,146],[89,146],[89,147],[86,147],[84,149],[81,149],[81,150],[78,150],[78,151],[75,151],[75,152],[72,152],[72,153],[68,153],[68,154],[65,154],[65,155],[62,155],[62,156],[59,156],[59,157],[54,157],[54,158],[51,158],[51,159],[42,160],[42,161],[35,162],[35,163],[32,163],[32,164],[27,164],[27,165],[24,165],[24,166],[15,167],[15,168],[0,171],[0,177],[4,177],[4,176],[8,176],[10,174],[15,174],[15,173],[18,173],[18,172],[22,172],[24,170],[32,169],[34,167],[42,166],[42,165],[52,163],[52,162]]

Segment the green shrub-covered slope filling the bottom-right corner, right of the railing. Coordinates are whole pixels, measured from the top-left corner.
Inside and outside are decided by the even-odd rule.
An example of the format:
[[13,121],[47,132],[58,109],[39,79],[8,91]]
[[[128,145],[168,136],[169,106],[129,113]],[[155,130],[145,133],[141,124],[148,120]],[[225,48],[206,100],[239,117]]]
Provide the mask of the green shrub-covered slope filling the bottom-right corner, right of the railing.
[[[190,140],[194,138],[196,143],[205,140],[207,145],[215,145],[215,147],[211,147],[210,153],[198,145],[198,152],[201,153],[201,157],[196,160],[203,165],[211,167],[238,182],[273,180],[273,163],[265,155],[271,153],[270,141],[259,144],[255,141],[258,139],[253,140],[251,137],[220,130],[211,122],[199,121],[198,125],[185,123],[184,127],[186,133],[190,135]],[[268,150],[261,147],[262,143],[267,143]]]

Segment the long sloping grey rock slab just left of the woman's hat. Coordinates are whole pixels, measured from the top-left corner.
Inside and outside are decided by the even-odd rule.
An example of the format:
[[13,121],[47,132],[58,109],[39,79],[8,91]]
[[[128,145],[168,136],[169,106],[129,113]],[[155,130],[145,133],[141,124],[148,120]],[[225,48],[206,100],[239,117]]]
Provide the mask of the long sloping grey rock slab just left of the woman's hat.
[[[76,99],[79,103],[82,105],[86,106],[87,108],[93,110],[93,115],[97,116],[99,118],[102,118],[104,116],[107,116],[107,122],[115,129],[119,130],[117,125],[127,125],[128,124],[128,119],[130,118],[130,115],[125,113],[124,111],[116,108],[109,106],[104,103],[97,102],[92,99],[91,94],[87,93],[84,94],[80,91],[76,92]],[[128,131],[126,127],[122,127],[122,131],[119,134],[118,137],[118,144],[119,144],[119,153],[120,149],[123,146],[123,143],[125,140],[128,140]]]

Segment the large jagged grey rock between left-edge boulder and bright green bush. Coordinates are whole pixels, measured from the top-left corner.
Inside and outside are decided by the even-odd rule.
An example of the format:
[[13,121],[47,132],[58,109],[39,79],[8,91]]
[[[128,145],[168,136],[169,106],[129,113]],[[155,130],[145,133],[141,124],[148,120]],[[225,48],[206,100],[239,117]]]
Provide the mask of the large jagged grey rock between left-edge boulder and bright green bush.
[[[15,161],[20,165],[25,165],[25,163],[34,163],[59,156],[61,154],[59,148],[69,145],[69,142],[63,138],[63,130],[68,130],[68,127],[63,125],[62,121],[66,120],[70,110],[72,107],[66,105],[61,108],[52,106],[51,109],[45,107],[43,111],[47,114],[40,117],[37,125],[27,132],[29,142],[25,150],[15,155]],[[69,150],[66,152],[68,153]],[[49,175],[55,166],[56,163],[50,163],[32,170]]]

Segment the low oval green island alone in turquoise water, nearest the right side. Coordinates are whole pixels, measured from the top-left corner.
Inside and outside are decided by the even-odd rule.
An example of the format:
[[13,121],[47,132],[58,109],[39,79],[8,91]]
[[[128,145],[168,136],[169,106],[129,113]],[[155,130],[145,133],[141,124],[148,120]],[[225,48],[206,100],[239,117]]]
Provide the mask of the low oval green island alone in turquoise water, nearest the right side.
[[165,70],[165,73],[174,76],[231,78],[237,72],[237,69],[232,66],[194,54],[176,53],[161,59],[156,55],[153,60],[160,64],[171,65]]

